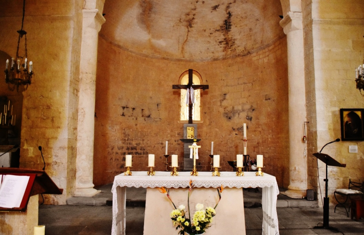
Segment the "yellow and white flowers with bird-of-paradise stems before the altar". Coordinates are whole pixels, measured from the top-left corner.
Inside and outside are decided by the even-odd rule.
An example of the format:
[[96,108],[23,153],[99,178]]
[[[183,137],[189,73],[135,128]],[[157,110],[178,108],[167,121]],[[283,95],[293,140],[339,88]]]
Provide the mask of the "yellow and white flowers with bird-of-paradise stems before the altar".
[[180,205],[178,208],[176,208],[176,205],[173,203],[171,197],[170,197],[170,191],[169,189],[165,189],[164,187],[159,188],[159,191],[161,193],[167,194],[168,199],[172,202],[174,206],[174,210],[171,212],[171,220],[173,221],[173,225],[177,225],[176,230],[181,229],[178,234],[184,235],[184,233],[190,234],[190,235],[198,235],[203,234],[207,228],[209,228],[209,224],[212,222],[212,217],[216,215],[215,209],[218,205],[218,203],[221,200],[221,192],[223,190],[223,187],[217,188],[217,193],[219,195],[219,200],[216,203],[215,207],[206,207],[204,209],[203,204],[197,203],[196,204],[196,211],[193,214],[192,218],[190,215],[190,209],[189,209],[189,194],[193,188],[193,181],[189,181],[189,189],[188,189],[188,197],[187,197],[187,207],[188,207],[188,218],[186,217],[185,213],[185,206]]

